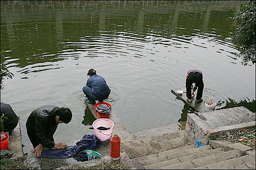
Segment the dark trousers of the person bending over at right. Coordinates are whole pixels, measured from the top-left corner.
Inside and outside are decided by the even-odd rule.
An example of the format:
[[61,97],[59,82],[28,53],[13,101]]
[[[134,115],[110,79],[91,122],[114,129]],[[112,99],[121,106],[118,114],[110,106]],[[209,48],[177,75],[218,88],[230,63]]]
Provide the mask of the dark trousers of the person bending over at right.
[[186,79],[186,96],[188,99],[191,99],[191,85],[196,83],[198,87],[197,90],[197,100],[200,100],[203,96],[204,82],[203,75],[199,72],[190,72]]

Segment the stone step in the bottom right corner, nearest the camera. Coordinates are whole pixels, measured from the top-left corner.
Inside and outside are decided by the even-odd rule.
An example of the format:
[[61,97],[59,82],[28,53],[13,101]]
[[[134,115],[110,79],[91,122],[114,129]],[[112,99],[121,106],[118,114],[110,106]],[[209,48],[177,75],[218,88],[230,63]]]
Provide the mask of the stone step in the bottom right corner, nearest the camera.
[[232,158],[193,169],[255,169],[255,150],[250,155]]

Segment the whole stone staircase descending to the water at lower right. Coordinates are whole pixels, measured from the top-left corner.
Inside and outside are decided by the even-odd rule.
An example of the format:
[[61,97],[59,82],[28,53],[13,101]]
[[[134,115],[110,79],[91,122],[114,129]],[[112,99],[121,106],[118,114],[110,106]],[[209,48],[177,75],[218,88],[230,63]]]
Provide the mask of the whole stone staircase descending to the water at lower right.
[[121,143],[131,169],[255,169],[255,150],[240,143],[186,145],[184,131]]

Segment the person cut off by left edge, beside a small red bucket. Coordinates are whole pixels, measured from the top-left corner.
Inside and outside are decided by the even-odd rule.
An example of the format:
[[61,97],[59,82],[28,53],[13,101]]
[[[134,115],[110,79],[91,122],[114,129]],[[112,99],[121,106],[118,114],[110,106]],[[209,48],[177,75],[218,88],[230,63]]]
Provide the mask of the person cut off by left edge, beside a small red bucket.
[[1,141],[6,139],[5,132],[12,134],[13,129],[18,125],[18,119],[9,104],[1,103]]

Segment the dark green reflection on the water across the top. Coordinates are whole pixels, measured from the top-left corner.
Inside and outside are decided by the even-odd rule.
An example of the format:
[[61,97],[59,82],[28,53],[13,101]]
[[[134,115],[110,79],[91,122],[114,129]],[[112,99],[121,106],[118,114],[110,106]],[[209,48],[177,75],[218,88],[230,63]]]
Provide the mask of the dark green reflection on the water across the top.
[[[10,50],[8,56],[15,59],[8,63],[23,68],[70,58],[125,55],[145,47],[142,43],[127,45],[127,40],[207,48],[191,37],[226,44],[234,25],[226,20],[233,11],[226,9],[236,10],[237,3],[240,2],[1,1],[1,49]],[[126,45],[128,51],[121,52]],[[83,55],[84,52],[88,53]],[[54,64],[38,66],[45,68],[35,71],[48,70]],[[61,67],[54,67],[58,68]]]

